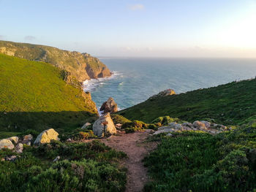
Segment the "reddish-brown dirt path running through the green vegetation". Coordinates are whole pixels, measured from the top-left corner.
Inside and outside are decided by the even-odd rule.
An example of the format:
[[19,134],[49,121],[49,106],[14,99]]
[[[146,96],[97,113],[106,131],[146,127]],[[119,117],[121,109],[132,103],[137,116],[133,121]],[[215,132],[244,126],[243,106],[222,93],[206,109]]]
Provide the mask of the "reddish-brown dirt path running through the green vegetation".
[[127,153],[128,158],[123,162],[128,169],[127,192],[142,191],[143,186],[148,181],[147,169],[143,166],[142,160],[149,151],[157,147],[157,143],[144,142],[148,134],[150,134],[150,130],[132,134],[119,133],[116,136],[101,140],[105,145]]

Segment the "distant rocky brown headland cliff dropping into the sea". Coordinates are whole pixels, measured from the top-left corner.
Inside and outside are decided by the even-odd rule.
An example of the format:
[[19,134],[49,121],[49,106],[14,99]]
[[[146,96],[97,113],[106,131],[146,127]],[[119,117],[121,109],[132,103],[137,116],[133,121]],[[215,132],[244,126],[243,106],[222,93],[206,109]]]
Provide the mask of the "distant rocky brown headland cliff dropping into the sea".
[[110,77],[111,72],[98,58],[88,53],[60,50],[45,45],[0,41],[0,53],[31,61],[43,61],[65,69],[78,81]]

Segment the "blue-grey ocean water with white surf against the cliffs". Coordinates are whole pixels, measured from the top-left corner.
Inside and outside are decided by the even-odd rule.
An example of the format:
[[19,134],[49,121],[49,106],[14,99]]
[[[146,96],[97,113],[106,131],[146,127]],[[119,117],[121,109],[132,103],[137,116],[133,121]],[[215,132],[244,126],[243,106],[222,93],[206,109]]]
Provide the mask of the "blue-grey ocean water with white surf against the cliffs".
[[110,78],[84,82],[97,107],[113,97],[120,109],[159,91],[184,93],[235,80],[255,78],[256,59],[223,58],[100,58],[113,71]]

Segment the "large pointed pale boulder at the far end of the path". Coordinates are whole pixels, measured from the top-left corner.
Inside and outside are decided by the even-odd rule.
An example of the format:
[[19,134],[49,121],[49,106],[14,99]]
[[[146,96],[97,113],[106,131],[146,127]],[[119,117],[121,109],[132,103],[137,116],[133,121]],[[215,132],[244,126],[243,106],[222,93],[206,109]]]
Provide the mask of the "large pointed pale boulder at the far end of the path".
[[113,123],[113,120],[110,118],[109,112],[99,117],[94,122],[92,129],[97,137],[104,137],[108,134],[116,134],[116,127]]

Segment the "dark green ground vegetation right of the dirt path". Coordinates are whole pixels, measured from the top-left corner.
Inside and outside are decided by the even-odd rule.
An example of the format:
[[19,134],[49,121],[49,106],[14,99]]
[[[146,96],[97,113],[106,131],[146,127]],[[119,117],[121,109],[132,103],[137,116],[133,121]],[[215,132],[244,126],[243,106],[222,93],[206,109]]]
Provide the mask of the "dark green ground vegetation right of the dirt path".
[[212,136],[184,132],[158,135],[157,150],[144,161],[153,182],[144,191],[256,190],[256,129]]

